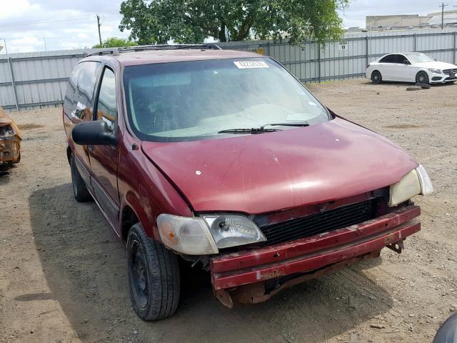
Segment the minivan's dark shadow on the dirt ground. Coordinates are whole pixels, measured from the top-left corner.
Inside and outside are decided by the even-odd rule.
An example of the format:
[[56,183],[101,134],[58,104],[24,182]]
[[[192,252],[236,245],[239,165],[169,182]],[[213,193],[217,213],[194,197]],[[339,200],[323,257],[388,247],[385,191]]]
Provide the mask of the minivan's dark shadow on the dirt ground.
[[[288,289],[255,306],[227,309],[212,295],[209,275],[185,273],[178,312],[143,322],[131,309],[124,244],[94,202],[79,204],[71,184],[29,198],[36,249],[50,293],[83,342],[325,342],[388,311],[389,294],[363,275],[378,261],[348,267]],[[348,309],[348,297],[356,309]]]

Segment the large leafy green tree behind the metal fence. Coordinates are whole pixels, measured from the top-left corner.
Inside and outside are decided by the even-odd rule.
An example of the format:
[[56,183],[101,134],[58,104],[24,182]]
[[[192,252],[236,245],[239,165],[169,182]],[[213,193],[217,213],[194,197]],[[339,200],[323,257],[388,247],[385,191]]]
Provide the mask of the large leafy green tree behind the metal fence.
[[349,0],[124,0],[119,29],[139,44],[341,39]]

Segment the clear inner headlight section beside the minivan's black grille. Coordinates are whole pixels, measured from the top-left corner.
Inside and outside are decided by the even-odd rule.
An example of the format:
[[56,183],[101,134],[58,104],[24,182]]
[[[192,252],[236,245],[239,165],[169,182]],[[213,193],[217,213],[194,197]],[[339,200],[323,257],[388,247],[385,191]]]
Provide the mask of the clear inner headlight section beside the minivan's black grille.
[[204,216],[209,231],[219,248],[266,241],[257,225],[251,219],[239,215]]

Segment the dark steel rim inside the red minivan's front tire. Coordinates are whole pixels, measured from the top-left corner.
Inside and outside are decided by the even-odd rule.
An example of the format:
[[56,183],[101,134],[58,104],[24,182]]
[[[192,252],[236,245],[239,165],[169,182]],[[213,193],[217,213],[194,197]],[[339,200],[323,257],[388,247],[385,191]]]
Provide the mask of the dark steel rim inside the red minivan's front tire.
[[129,274],[135,302],[139,307],[145,308],[149,298],[148,274],[146,273],[143,249],[141,248],[141,244],[136,240],[130,244]]

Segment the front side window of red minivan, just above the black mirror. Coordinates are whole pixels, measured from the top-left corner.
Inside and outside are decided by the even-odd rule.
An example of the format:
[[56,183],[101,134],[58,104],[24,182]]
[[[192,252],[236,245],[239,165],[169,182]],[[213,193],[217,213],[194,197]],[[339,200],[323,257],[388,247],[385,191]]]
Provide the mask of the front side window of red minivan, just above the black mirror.
[[116,76],[109,68],[105,68],[101,79],[96,111],[96,119],[105,121],[109,129],[113,131],[117,117]]

